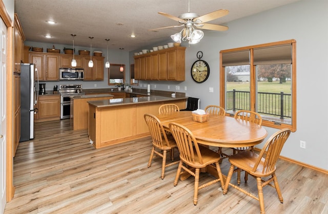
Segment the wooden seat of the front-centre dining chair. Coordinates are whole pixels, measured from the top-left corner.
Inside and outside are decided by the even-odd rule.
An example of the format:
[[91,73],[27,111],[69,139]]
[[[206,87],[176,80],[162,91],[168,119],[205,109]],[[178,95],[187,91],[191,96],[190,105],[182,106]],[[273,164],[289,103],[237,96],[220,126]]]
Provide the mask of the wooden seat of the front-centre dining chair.
[[[203,164],[199,163],[198,157],[195,157],[195,163],[191,163],[188,160],[183,160],[183,157],[180,157],[180,160],[184,161],[184,162],[188,162],[188,165],[190,165],[191,167],[194,168],[203,168],[211,163],[215,163],[217,161],[220,160],[220,154],[212,151],[209,148],[206,148],[204,146],[199,145],[199,151],[203,160]],[[194,154],[195,156],[197,156],[197,152],[196,149],[194,148]]]

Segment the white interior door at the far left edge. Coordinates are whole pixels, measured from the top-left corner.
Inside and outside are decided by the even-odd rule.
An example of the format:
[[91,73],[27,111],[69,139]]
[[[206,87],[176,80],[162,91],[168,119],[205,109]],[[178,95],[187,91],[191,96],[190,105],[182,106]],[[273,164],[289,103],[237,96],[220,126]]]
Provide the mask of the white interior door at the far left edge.
[[6,69],[7,69],[7,27],[1,19],[1,31],[0,31],[0,213],[4,213],[6,206],[6,164],[7,164],[7,102],[6,102]]

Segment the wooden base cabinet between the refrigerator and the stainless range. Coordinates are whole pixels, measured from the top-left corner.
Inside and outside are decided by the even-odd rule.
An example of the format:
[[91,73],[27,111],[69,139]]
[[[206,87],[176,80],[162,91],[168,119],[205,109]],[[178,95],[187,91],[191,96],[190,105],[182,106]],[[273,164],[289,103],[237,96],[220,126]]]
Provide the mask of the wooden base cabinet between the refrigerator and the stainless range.
[[60,95],[42,95],[38,97],[38,112],[35,122],[60,119]]

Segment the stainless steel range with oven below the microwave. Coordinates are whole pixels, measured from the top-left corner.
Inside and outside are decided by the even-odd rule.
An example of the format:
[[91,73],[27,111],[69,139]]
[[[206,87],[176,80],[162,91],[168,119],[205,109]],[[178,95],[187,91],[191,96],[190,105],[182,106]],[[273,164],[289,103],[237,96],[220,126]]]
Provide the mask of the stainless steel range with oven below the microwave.
[[84,95],[81,84],[60,84],[60,119],[70,118],[72,95]]

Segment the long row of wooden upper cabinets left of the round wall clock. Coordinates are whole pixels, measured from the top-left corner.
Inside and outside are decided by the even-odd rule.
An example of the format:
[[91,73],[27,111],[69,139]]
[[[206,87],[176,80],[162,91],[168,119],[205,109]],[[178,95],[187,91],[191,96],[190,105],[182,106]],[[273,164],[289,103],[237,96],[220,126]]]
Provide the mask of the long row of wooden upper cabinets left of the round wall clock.
[[135,79],[185,81],[185,47],[134,56]]

